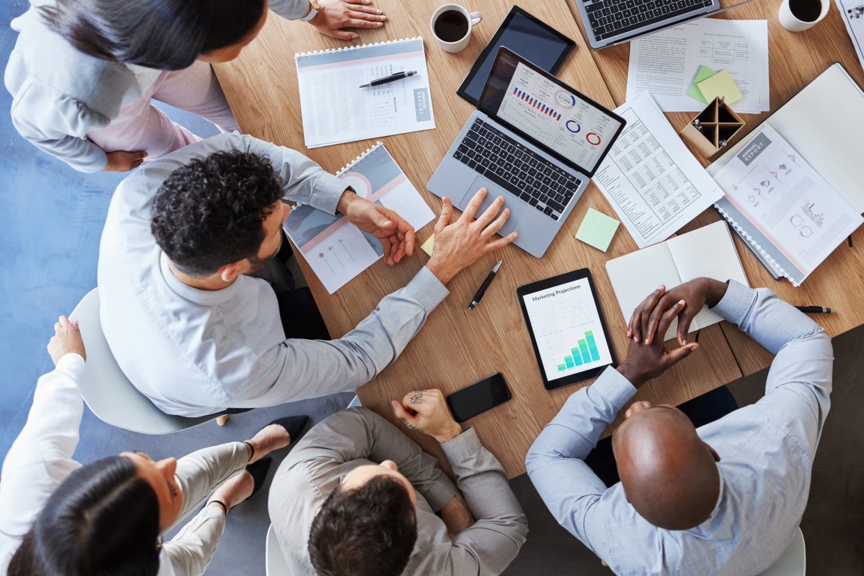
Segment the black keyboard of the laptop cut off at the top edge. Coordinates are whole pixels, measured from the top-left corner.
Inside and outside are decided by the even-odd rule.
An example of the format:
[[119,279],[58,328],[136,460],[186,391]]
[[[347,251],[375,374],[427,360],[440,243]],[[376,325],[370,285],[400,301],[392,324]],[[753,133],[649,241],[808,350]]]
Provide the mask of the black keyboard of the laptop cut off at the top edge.
[[711,0],[594,0],[583,2],[597,40],[667,22],[701,10]]

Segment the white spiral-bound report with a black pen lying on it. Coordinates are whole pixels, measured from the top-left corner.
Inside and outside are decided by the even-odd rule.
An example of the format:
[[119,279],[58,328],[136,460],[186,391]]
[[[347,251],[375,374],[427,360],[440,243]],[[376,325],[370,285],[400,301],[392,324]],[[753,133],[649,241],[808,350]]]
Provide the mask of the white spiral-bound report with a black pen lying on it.
[[[306,148],[435,128],[422,38],[294,55]],[[409,78],[360,88],[416,71]]]

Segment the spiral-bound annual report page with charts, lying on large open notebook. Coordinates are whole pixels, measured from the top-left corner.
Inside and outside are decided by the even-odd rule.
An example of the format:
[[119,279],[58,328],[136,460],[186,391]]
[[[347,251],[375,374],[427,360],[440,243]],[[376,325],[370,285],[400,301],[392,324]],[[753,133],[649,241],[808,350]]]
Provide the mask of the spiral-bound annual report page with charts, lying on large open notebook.
[[864,222],[770,124],[763,125],[714,179],[732,206],[791,264],[791,269],[777,265],[756,246],[795,286]]

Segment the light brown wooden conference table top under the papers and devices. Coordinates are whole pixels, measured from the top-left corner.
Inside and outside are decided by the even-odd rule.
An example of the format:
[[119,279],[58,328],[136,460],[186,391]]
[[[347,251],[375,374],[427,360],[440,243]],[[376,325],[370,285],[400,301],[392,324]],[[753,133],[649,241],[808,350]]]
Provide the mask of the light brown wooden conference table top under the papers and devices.
[[[558,77],[600,104],[615,108],[625,99],[629,45],[592,51],[584,39],[581,22],[577,23],[578,16],[574,16],[578,14],[574,1],[546,0],[532,3],[527,9],[576,42],[575,50]],[[864,84],[854,48],[834,6],[823,22],[810,31],[794,35],[778,24],[780,0],[757,2],[735,9],[732,14],[727,13],[727,17],[767,19],[769,22],[772,110],[836,60],[842,61],[849,73]],[[471,44],[465,50],[459,54],[447,54],[435,45],[429,30],[429,17],[442,3],[442,0],[374,0],[374,6],[383,9],[387,15],[387,22],[382,28],[359,30],[360,37],[353,41],[361,44],[418,35],[424,39],[436,128],[387,136],[381,140],[435,213],[440,212],[442,202],[426,190],[426,182],[473,111],[471,104],[456,95],[456,88],[512,5],[509,0],[470,0],[463,3],[471,11],[480,10],[484,21],[473,29]],[[270,14],[261,34],[237,60],[216,66],[219,80],[244,132],[300,150],[330,172],[336,172],[372,146],[374,140],[308,150],[303,143],[293,55],[343,46],[346,42],[319,35],[304,22],[288,22]],[[689,116],[692,114],[667,114],[676,130],[689,121]],[[745,130],[752,130],[766,116],[745,115]],[[391,400],[401,400],[415,389],[438,388],[449,394],[494,372],[502,372],[513,393],[513,400],[473,418],[469,423],[477,429],[484,446],[504,465],[509,477],[525,472],[524,456],[537,434],[568,397],[590,381],[551,392],[543,389],[516,288],[569,270],[590,269],[612,332],[615,352],[619,361],[626,358],[626,322],[621,316],[604,263],[637,250],[637,246],[623,226],[607,252],[575,240],[575,231],[588,207],[615,216],[612,206],[592,182],[543,258],[537,259],[515,246],[507,246],[480,258],[456,275],[448,283],[451,294],[429,315],[426,325],[403,354],[358,390],[364,406],[401,426],[392,415]],[[707,225],[718,218],[713,209],[707,210],[683,231]],[[300,258],[303,273],[333,338],[352,330],[384,295],[410,282],[417,270],[429,260],[419,247],[432,234],[433,227],[434,224],[429,224],[417,231],[414,256],[393,267],[379,261],[333,295],[327,294],[314,272]],[[840,313],[816,317],[831,336],[864,323],[864,291],[859,288],[864,277],[864,231],[861,229],[854,235],[854,248],[849,249],[843,244],[835,250],[835,254],[808,278],[803,288],[792,288],[785,280],[775,282],[737,238],[736,245],[753,286],[772,288],[794,304],[819,304],[839,309]],[[504,259],[499,278],[480,306],[469,312],[467,305],[471,297],[499,258]],[[639,389],[633,401],[680,404],[760,370],[771,362],[765,349],[726,322],[708,326],[701,332],[704,333],[699,336],[700,350]],[[674,346],[675,343],[670,341],[666,345]],[[619,415],[607,434],[611,434],[621,420]],[[435,440],[421,434],[412,434],[412,438],[427,452],[442,455]],[[446,465],[446,462],[442,464]]]

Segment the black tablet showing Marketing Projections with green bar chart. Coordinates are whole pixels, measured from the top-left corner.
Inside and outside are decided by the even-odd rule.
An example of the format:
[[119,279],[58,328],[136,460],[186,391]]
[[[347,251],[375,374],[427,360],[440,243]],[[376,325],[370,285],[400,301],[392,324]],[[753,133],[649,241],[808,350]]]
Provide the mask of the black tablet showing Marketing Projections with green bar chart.
[[520,286],[516,294],[547,390],[618,366],[587,268]]

